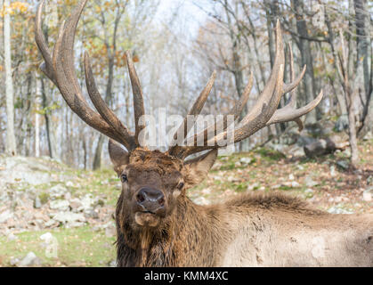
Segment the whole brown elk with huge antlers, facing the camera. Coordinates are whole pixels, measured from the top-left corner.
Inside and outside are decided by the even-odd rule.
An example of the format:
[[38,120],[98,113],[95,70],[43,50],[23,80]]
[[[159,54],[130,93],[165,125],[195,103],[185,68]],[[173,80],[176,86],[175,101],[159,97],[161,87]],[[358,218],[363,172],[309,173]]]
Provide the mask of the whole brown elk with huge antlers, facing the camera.
[[[101,99],[87,53],[86,88],[97,112],[86,102],[78,84],[74,37],[86,2],[81,1],[61,25],[51,54],[42,32],[45,1],[41,1],[36,12],[36,44],[45,60],[41,69],[59,88],[69,108],[86,124],[109,136],[109,157],[122,183],[115,214],[118,266],[373,265],[372,215],[332,215],[311,208],[301,199],[276,192],[242,194],[212,206],[193,203],[187,190],[201,183],[213,166],[219,142],[227,135],[226,118],[239,118],[253,85],[253,75],[239,101],[223,117],[222,132],[206,139],[202,146],[175,144],[166,152],[150,151],[139,142],[143,128],[139,118],[144,114],[144,105],[130,52],[126,52],[126,60],[134,94],[134,133]],[[295,77],[291,50],[289,59],[290,83],[285,84],[284,47],[278,21],[271,76],[253,109],[235,126],[234,142],[275,123],[296,121],[302,128],[299,118],[321,101],[322,92],[296,109],[295,89],[305,67]],[[189,115],[202,110],[214,80],[215,74]],[[288,104],[278,109],[281,96],[287,93]],[[180,126],[183,139],[190,131],[185,121]],[[208,133],[207,129],[203,132]],[[194,159],[187,159],[193,154]]]

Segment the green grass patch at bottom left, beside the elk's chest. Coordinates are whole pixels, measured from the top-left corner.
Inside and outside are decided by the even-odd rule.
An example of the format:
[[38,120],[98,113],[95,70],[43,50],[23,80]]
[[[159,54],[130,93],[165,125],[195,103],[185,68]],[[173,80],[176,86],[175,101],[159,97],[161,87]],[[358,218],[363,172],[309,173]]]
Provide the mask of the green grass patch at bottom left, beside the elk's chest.
[[[50,257],[40,236],[51,232],[58,241],[57,257]],[[11,259],[22,259],[32,251],[42,259],[43,266],[107,266],[115,260],[115,238],[107,237],[104,231],[93,231],[90,226],[80,228],[57,228],[50,231],[21,232],[17,240],[0,237],[0,260],[4,266]]]

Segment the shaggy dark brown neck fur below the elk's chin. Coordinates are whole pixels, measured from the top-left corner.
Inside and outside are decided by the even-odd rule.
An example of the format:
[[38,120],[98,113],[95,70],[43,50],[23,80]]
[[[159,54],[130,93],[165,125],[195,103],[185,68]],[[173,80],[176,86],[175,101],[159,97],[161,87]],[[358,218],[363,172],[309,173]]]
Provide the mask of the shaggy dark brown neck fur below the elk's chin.
[[228,236],[226,230],[216,224],[220,223],[221,211],[196,205],[188,198],[180,199],[174,213],[157,229],[134,229],[129,219],[120,216],[121,212],[118,206],[118,266],[198,266],[206,263],[213,266],[219,253],[217,240]]

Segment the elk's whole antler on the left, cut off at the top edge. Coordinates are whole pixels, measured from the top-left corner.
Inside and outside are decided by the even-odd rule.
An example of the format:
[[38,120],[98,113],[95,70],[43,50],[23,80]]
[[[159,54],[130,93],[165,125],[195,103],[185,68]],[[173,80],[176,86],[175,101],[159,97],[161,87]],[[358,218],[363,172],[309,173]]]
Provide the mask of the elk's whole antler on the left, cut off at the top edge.
[[81,1],[72,12],[69,19],[62,23],[52,55],[45,42],[42,30],[42,12],[45,0],[40,2],[37,7],[35,21],[36,45],[45,60],[40,66],[40,69],[42,69],[45,75],[53,81],[53,84],[59,88],[62,97],[77,116],[102,134],[106,134],[111,139],[123,144],[128,151],[132,151],[140,145],[138,135],[142,130],[142,126],[139,125],[139,118],[144,115],[144,107],[142,87],[137,77],[136,70],[134,69],[131,53],[128,51],[126,52],[126,60],[134,94],[134,135],[127,130],[126,126],[120,122],[114,112],[109,109],[106,102],[102,100],[93,78],[93,71],[88,53],[85,53],[84,57],[85,83],[91,101],[98,113],[92,110],[88,105],[77,82],[77,75],[74,69],[74,38],[77,30],[77,23],[85,8],[86,2],[87,0]]

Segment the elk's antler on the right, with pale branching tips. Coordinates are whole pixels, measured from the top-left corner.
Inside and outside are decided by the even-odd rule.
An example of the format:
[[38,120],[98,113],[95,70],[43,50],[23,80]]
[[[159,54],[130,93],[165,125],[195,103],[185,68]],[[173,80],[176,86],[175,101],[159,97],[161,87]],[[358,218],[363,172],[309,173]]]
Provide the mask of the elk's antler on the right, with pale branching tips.
[[[267,84],[264,86],[263,92],[259,95],[253,109],[245,116],[245,118],[242,118],[242,120],[239,122],[238,127],[234,129],[232,142],[240,142],[250,135],[255,134],[257,131],[264,128],[265,126],[270,126],[272,124],[280,122],[296,121],[299,128],[302,129],[303,123],[299,118],[309,113],[320,103],[323,96],[322,91],[312,102],[308,103],[306,106],[300,109],[296,109],[295,89],[304,77],[306,67],[304,66],[304,69],[302,70],[300,75],[295,78],[293,52],[291,46],[289,45],[291,82],[288,85],[284,85],[283,75],[285,59],[283,49],[284,47],[282,42],[280,21],[278,20],[276,24],[276,56],[271,76]],[[244,94],[241,96],[238,104],[236,104],[236,106],[233,107],[231,112],[229,112],[228,114],[234,116],[235,119],[239,117],[240,112],[243,110],[243,107],[247,102],[248,95],[253,84],[252,81],[253,78],[251,75],[249,83],[245,88]],[[288,92],[290,92],[290,99],[288,104],[282,109],[278,110],[281,96],[283,94],[287,94]],[[216,150],[222,147],[222,145],[224,145],[223,140],[229,135],[229,132],[227,130],[228,124],[226,118],[227,115],[225,115],[223,118],[223,131],[221,133],[214,135],[212,138],[209,138],[209,132],[207,131],[207,129],[209,128],[207,128],[202,133],[195,134],[191,138],[191,141],[190,139],[187,139],[187,141],[189,142],[194,142],[192,146],[174,146],[171,147],[168,152],[180,159],[185,159],[189,155],[197,153],[199,151]],[[218,123],[216,123],[215,126],[217,124]],[[197,138],[201,134],[204,134],[204,144],[203,146],[198,146],[196,142]]]

